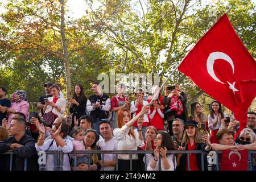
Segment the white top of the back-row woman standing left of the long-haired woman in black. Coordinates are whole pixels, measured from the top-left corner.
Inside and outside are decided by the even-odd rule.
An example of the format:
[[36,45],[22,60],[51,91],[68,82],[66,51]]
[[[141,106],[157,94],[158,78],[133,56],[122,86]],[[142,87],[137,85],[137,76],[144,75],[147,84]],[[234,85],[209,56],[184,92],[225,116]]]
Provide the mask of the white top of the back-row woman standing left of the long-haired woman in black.
[[[53,96],[48,97],[48,101],[53,102]],[[61,108],[60,112],[57,111],[55,107],[48,105],[44,113],[49,113],[49,111],[52,111],[52,113],[58,115],[58,117],[64,117],[64,113],[66,109],[66,100],[64,98],[59,98],[55,105]]]

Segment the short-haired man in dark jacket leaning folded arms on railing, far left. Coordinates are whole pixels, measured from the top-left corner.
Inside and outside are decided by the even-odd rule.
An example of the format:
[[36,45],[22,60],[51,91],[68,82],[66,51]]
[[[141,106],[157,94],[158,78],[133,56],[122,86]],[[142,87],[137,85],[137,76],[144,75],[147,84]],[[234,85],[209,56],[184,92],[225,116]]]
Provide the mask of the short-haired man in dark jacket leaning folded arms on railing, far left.
[[[25,134],[26,121],[22,118],[13,118],[8,128],[11,137],[0,142],[0,154],[13,152],[14,171],[24,170],[24,159],[27,159],[27,170],[38,170],[38,155],[35,148],[35,139]],[[10,155],[1,155],[5,159],[6,168],[10,168]]]

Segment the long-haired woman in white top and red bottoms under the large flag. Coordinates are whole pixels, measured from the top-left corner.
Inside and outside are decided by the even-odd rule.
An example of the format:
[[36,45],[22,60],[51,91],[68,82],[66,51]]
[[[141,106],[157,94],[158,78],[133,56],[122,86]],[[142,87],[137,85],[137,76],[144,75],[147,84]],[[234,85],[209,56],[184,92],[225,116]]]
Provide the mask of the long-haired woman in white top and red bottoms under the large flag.
[[216,134],[221,126],[221,119],[226,115],[222,112],[221,104],[218,101],[212,101],[210,104],[210,114],[208,115],[208,124],[210,132],[210,143],[218,143]]

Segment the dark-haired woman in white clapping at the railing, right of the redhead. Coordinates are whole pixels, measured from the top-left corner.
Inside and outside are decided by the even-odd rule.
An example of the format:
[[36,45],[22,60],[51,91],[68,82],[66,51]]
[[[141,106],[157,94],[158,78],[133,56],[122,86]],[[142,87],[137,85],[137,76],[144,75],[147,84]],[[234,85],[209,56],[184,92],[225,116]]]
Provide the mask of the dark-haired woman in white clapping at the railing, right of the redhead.
[[[147,171],[175,171],[175,155],[167,154],[168,150],[175,150],[174,142],[170,135],[163,131],[158,133],[154,140],[154,146],[154,154],[147,154]],[[159,160],[161,160],[160,168]]]

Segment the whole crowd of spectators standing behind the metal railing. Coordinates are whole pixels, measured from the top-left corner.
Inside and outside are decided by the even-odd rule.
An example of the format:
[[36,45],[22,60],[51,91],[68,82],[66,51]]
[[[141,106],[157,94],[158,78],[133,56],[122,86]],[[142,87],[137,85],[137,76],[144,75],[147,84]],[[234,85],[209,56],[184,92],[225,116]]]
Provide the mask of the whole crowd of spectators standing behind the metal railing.
[[[110,98],[102,93],[99,82],[92,86],[92,96],[85,96],[81,84],[76,84],[72,98],[67,100],[60,84],[46,82],[44,96],[39,98],[38,113],[29,113],[24,90],[15,90],[10,100],[7,90],[0,87],[0,170],[38,170],[39,151],[62,151],[63,170],[119,171],[200,171],[208,169],[207,153],[211,150],[256,150],[256,113],[247,113],[247,126],[239,137],[234,136],[240,122],[227,117],[221,103],[212,101],[207,116],[199,102],[191,104],[188,113],[187,94],[178,84],[166,86],[164,96],[144,97],[135,92],[135,100],[124,96],[123,84]],[[155,88],[158,90],[158,87]],[[156,93],[156,92],[154,92]],[[68,114],[67,106],[69,105]],[[168,130],[164,129],[168,123]],[[204,135],[199,129],[205,126]],[[77,151],[152,151],[150,154],[86,154]],[[204,151],[201,154],[170,154],[170,151]],[[71,154],[72,151],[76,151]],[[44,170],[54,168],[54,155],[47,154]],[[144,168],[144,163],[147,166]],[[131,165],[131,166],[130,166]],[[254,163],[255,166],[255,163]]]

